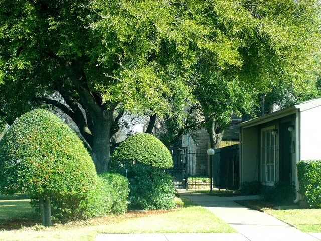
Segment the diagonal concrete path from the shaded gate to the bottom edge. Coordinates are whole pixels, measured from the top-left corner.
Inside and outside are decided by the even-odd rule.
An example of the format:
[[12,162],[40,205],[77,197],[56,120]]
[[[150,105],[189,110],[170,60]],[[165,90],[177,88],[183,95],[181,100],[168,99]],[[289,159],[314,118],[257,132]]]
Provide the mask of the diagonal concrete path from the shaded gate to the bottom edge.
[[[233,198],[209,196],[180,190],[180,195],[205,207],[250,241],[318,241],[319,234],[303,233],[266,214],[233,201]],[[240,198],[239,198],[240,199]]]

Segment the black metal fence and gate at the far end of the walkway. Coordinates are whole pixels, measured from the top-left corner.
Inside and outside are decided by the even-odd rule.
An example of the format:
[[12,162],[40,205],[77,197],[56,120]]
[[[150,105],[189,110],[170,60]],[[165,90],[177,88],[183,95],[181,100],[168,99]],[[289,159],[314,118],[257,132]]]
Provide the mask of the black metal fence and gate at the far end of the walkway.
[[[210,157],[206,151],[187,148],[171,150],[173,168],[168,173],[178,189],[210,189]],[[239,145],[215,150],[212,156],[213,187],[239,188]]]

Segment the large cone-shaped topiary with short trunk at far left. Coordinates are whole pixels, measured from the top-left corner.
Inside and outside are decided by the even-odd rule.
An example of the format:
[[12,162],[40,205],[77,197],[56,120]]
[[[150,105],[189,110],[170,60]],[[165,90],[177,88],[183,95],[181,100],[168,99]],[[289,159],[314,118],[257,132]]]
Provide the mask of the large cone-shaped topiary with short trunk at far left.
[[78,216],[80,203],[97,182],[77,134],[43,109],[22,115],[4,135],[0,170],[0,192],[27,193],[44,225],[51,224],[51,211],[59,218]]

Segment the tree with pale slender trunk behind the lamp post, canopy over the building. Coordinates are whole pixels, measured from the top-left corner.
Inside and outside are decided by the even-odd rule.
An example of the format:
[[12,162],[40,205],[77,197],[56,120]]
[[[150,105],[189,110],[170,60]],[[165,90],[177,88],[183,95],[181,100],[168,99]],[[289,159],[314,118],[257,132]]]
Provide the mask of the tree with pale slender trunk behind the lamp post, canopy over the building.
[[261,95],[288,105],[317,94],[319,1],[186,3],[202,38],[190,77],[194,99],[180,118],[169,116],[170,141],[203,127],[218,147],[232,113],[255,115]]

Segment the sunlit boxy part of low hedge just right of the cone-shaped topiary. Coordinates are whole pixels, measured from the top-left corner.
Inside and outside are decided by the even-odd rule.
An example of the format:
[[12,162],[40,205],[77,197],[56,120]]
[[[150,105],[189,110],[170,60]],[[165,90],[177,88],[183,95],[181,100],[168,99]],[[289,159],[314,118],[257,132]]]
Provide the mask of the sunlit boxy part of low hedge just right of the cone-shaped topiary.
[[82,217],[105,216],[121,214],[127,211],[128,180],[116,173],[101,173],[98,175],[96,187],[88,194],[86,202],[82,203]]

